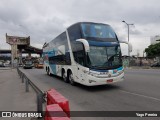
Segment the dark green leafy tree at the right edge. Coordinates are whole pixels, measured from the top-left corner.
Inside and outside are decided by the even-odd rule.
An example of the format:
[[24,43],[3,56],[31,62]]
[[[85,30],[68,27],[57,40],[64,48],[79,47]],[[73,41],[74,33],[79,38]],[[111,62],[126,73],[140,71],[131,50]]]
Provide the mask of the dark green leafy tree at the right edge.
[[145,49],[145,52],[147,54],[147,57],[160,56],[160,42],[157,44],[148,46],[148,48]]

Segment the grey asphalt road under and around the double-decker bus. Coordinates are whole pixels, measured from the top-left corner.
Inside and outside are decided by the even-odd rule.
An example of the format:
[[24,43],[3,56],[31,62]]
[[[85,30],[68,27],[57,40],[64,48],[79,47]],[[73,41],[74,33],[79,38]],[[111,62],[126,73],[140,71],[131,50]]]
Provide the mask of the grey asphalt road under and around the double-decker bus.
[[[42,69],[22,69],[37,86],[55,88],[68,98],[71,111],[160,111],[160,70],[125,70],[125,81],[104,86],[71,86]],[[73,118],[77,119],[77,118]],[[85,118],[91,119],[93,118]],[[83,120],[85,120],[83,118]],[[94,118],[96,120],[135,120],[138,118]],[[141,118],[159,120],[160,118]]]

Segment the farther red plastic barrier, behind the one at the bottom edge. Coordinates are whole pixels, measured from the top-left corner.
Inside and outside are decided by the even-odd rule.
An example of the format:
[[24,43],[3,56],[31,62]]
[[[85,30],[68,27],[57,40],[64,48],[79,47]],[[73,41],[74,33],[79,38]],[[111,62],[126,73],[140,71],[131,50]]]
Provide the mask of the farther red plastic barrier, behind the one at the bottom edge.
[[47,91],[47,105],[58,104],[63,111],[70,117],[69,101],[55,89]]

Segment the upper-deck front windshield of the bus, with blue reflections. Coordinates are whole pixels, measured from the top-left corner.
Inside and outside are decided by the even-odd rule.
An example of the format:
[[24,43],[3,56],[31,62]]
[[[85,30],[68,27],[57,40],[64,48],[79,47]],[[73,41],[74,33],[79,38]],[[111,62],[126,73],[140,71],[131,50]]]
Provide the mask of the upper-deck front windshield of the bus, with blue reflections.
[[116,38],[115,32],[109,25],[82,23],[82,34],[87,38]]

